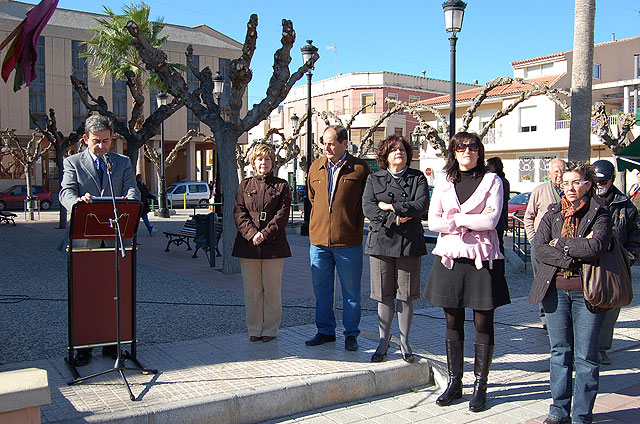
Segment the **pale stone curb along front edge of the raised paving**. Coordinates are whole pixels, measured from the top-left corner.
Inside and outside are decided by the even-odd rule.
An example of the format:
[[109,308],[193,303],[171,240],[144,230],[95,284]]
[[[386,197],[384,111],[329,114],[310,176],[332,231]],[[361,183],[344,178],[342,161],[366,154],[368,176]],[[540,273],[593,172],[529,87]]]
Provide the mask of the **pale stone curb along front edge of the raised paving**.
[[[344,371],[306,382],[275,384],[255,390],[204,396],[133,411],[85,416],[63,423],[257,423],[314,409],[401,392],[434,383],[432,363],[396,360],[375,369]],[[434,386],[435,389],[435,386]]]

